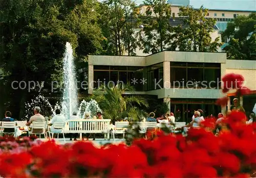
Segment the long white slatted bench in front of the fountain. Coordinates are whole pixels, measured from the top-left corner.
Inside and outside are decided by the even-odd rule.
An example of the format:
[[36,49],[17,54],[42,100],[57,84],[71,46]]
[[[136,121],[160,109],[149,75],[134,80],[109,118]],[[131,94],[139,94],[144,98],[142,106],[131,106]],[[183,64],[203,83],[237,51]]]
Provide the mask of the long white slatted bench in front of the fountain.
[[110,139],[109,125],[111,119],[77,119],[67,121],[65,133],[105,133]]

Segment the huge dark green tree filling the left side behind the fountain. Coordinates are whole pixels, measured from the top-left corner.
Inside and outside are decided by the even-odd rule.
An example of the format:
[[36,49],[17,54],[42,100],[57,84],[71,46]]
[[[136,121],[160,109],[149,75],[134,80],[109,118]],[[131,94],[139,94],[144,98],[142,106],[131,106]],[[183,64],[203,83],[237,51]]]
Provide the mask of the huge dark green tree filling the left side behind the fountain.
[[[44,81],[44,88],[51,89],[51,81],[61,79],[67,41],[80,58],[100,48],[100,28],[91,23],[97,19],[92,11],[96,0],[67,2],[0,1],[0,68],[4,72],[1,83],[7,91],[3,102],[11,101],[14,110],[19,111],[17,118],[24,116],[29,92],[28,88],[13,90],[13,81],[24,81],[27,87],[29,81]],[[38,87],[33,88],[33,92],[37,91]]]

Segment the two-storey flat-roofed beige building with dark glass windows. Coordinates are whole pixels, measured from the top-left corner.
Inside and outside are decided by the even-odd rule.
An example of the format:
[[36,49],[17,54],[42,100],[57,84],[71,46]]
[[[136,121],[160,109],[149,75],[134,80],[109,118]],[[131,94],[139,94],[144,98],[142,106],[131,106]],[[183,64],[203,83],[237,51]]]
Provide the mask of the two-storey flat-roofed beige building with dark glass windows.
[[[180,121],[189,121],[194,110],[217,115],[216,99],[223,97],[221,77],[238,73],[256,90],[256,62],[227,60],[226,53],[163,51],[148,56],[92,56],[88,58],[88,93],[100,84],[131,83],[134,94],[155,96],[168,103]],[[256,97],[254,99],[256,103]],[[253,106],[252,106],[253,107]]]

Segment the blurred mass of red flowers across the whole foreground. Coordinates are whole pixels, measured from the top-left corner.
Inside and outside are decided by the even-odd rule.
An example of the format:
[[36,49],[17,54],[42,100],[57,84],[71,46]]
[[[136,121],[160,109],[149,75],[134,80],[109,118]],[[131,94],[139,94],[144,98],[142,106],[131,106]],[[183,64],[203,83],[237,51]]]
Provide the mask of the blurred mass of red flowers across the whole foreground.
[[[158,132],[153,140],[131,146],[91,142],[31,144],[20,152],[0,154],[3,177],[250,177],[256,172],[256,125],[232,112],[216,137],[207,129],[190,129],[187,137]],[[211,120],[202,124],[212,127]],[[4,141],[6,142],[6,141]],[[18,143],[19,141],[13,141]],[[24,143],[24,142],[22,142]]]

